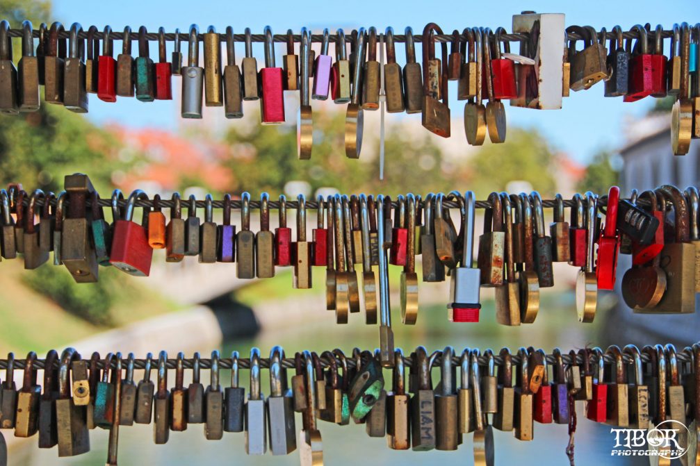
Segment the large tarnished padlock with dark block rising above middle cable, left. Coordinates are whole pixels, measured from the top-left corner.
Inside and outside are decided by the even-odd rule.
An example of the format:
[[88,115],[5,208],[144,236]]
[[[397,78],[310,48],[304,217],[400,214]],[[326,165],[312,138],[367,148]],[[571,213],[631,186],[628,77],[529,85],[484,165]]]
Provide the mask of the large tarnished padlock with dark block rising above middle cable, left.
[[92,212],[86,206],[94,188],[85,174],[66,175],[64,188],[69,209],[61,227],[61,260],[76,282],[96,282],[97,256],[90,240]]

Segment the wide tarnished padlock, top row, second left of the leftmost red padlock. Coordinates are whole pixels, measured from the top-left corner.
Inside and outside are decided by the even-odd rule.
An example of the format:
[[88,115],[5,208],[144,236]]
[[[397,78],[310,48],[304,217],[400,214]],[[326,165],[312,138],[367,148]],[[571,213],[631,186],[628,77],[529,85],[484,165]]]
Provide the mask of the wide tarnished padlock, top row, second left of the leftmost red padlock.
[[71,24],[68,38],[68,58],[64,67],[63,104],[70,111],[87,113],[85,90],[85,43],[78,36],[83,34],[79,23]]

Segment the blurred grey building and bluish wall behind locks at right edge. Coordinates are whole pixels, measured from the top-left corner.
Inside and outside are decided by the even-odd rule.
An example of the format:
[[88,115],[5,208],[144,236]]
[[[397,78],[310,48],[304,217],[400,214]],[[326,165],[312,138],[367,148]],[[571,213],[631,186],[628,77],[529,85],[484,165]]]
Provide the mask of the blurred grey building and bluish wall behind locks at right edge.
[[[671,118],[666,113],[634,120],[626,129],[628,141],[619,151],[623,160],[620,180],[623,195],[629,196],[633,188],[642,192],[663,184],[673,184],[679,188],[700,185],[700,141],[692,141],[687,155],[675,156],[671,150],[670,127]],[[629,340],[638,344],[659,340],[684,345],[698,341],[700,313],[666,316],[637,314],[624,304],[620,283],[629,267],[631,256],[620,255],[615,285],[619,303],[615,312],[609,313],[606,318],[608,340]]]

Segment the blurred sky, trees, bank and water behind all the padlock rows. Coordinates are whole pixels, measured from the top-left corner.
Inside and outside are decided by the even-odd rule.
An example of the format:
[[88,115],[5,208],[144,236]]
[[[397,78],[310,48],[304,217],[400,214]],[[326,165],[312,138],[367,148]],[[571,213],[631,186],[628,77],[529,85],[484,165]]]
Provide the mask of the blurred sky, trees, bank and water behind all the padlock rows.
[[[510,30],[511,16],[525,9],[566,13],[566,24],[591,24],[596,29],[605,26],[608,31],[617,23],[626,30],[647,21],[652,27],[658,22],[670,29],[674,22],[696,18],[700,13],[696,1],[674,2],[678,8],[659,8],[652,1],[638,1],[634,8],[624,2],[605,3],[603,10],[590,3],[567,3],[565,11],[561,11],[561,3],[551,0],[500,2],[499,8],[492,8],[488,2],[428,8],[418,1],[355,1],[342,5],[279,2],[271,8],[274,3],[0,0],[0,18],[8,19],[13,28],[29,19],[35,28],[41,22],[59,20],[66,28],[77,21],[85,30],[95,24],[102,31],[109,22],[115,31],[125,25],[136,31],[145,24],[149,31],[163,26],[172,32],[176,27],[187,31],[190,23],[199,22],[200,31],[212,23],[220,32],[232,24],[236,33],[244,27],[256,33],[270,24],[276,34],[288,28],[297,32],[302,26],[317,34],[323,27],[351,31],[374,24],[378,31],[392,25],[398,34],[410,25],[420,34],[428,21],[437,22],[446,32],[472,25],[492,29],[502,25]],[[455,21],[457,17],[460,19]],[[14,39],[13,45],[18,59],[20,40]],[[317,53],[318,46],[314,44]],[[186,57],[186,43],[182,47]],[[114,48],[119,53],[121,44],[115,43]],[[135,44],[133,48],[135,53]],[[278,66],[283,53],[280,48],[276,48]],[[169,42],[167,57],[171,49]],[[403,64],[402,44],[397,49],[398,61]],[[151,57],[157,58],[153,52],[157,49],[152,46],[151,50]],[[262,66],[262,45],[253,45],[253,50],[258,66]],[[240,60],[241,45],[237,53]],[[454,86],[450,83],[452,95],[456,92]],[[451,99],[451,139],[425,131],[419,115],[388,115],[386,166],[384,179],[380,180],[379,112],[365,112],[362,158],[348,160],[343,145],[344,106],[312,101],[314,153],[310,162],[299,162],[295,156],[296,93],[286,93],[285,125],[261,126],[257,102],[245,105],[242,120],[226,120],[221,108],[205,108],[202,120],[183,120],[179,115],[180,78],[174,76],[173,101],[144,104],[120,97],[117,104],[107,104],[93,94],[87,115],[43,105],[38,113],[0,116],[0,184],[19,181],[25,189],[58,192],[64,175],[81,171],[90,175],[102,197],[108,197],[113,188],[127,193],[141,188],[150,196],[159,193],[169,198],[179,191],[183,197],[195,194],[197,199],[207,192],[215,199],[226,192],[238,197],[246,190],[253,199],[262,191],[276,199],[280,194],[296,197],[303,193],[315,198],[319,192],[381,192],[395,197],[407,191],[425,195],[454,189],[474,190],[479,199],[501,190],[538,190],[544,198],[561,192],[570,198],[574,192],[585,190],[603,194],[616,183],[625,195],[631,188],[644,190],[661,183],[681,187],[698,184],[698,143],[694,141],[685,157],[671,154],[668,126],[672,101],[643,99],[623,104],[622,99],[603,98],[602,87],[598,84],[588,92],[572,92],[561,111],[507,107],[506,142],[492,145],[487,141],[481,148],[466,143],[463,104],[455,99]],[[294,214],[288,214],[292,223]],[[107,210],[106,216],[110,220]],[[550,216],[547,212],[547,221]],[[255,214],[253,217],[255,230],[257,219]],[[240,225],[237,216],[234,220]],[[310,218],[309,225],[315,225],[315,221]],[[274,227],[274,213],[272,223]],[[481,225],[480,219],[477,225]],[[621,273],[629,262],[629,257],[621,257]],[[378,328],[364,325],[362,316],[351,316],[348,325],[336,325],[334,313],[325,311],[323,269],[314,271],[313,290],[293,290],[290,269],[278,268],[276,276],[265,281],[239,281],[235,266],[230,264],[200,266],[195,257],[165,264],[164,254],[158,250],[148,279],[132,278],[109,267],[100,269],[99,283],[76,285],[66,269],[51,264],[27,273],[21,261],[6,261],[2,267],[0,351],[14,351],[18,357],[29,350],[43,355],[50,348],[68,345],[78,348],[83,356],[94,350],[103,355],[120,350],[124,355],[134,351],[137,357],[143,357],[148,351],[157,354],[165,349],[174,358],[177,351],[184,351],[188,357],[200,351],[203,357],[209,357],[213,348],[220,349],[224,357],[233,349],[247,357],[251,346],[260,347],[266,356],[276,344],[286,348],[288,355],[304,348],[321,351],[335,347],[351,353],[354,346],[374,348],[379,343]],[[399,273],[398,268],[391,270],[394,304],[398,304]],[[495,350],[509,346],[517,350],[529,345],[549,352],[554,346],[568,351],[587,345],[604,348],[612,343],[672,341],[682,347],[698,339],[700,322],[696,315],[636,315],[624,306],[619,290],[601,292],[596,322],[579,324],[574,306],[576,269],[556,264],[555,274],[556,286],[542,290],[537,322],[512,328],[496,325],[491,290],[482,289],[484,309],[479,325],[451,325],[445,309],[449,285],[421,283],[417,325],[403,326],[398,306],[392,311],[395,344],[406,352],[419,344],[429,351],[450,344],[460,352],[465,346]],[[244,380],[247,374],[243,372]],[[263,387],[267,388],[264,375]],[[208,374],[203,378],[206,385]],[[222,378],[228,381],[228,373],[223,372]],[[437,371],[433,379],[435,383],[439,380]],[[582,407],[579,416],[583,417]],[[419,454],[387,449],[384,439],[368,438],[361,425],[339,428],[319,423],[319,428],[328,464],[471,462],[471,440],[467,437],[458,452]],[[229,458],[245,464],[298,461],[296,453],[285,458],[245,456],[243,435],[227,434],[227,439],[235,437],[230,442],[207,442],[199,425],[172,433],[167,446],[149,442],[150,432],[150,426],[141,425],[120,430],[123,464],[186,465]],[[10,464],[99,463],[106,456],[106,431],[98,429],[91,435],[90,453],[60,460],[55,451],[36,449],[36,439],[11,439]],[[561,425],[536,425],[535,440],[530,444],[515,441],[510,432],[496,432],[496,461],[517,461],[520,465],[565,463],[567,442],[566,427]],[[582,420],[577,433],[578,464],[608,463],[612,444],[609,426]],[[356,450],[357,446],[361,451]],[[546,459],[538,454],[544,449]],[[615,462],[635,464],[629,458],[615,458]]]

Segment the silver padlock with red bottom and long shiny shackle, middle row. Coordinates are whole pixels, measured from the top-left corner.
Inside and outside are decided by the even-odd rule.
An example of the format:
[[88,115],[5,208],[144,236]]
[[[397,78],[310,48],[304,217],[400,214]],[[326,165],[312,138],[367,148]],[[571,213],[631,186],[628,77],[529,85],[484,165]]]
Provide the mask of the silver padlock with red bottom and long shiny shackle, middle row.
[[478,322],[479,289],[481,285],[481,271],[473,267],[474,229],[476,223],[476,200],[474,192],[467,191],[464,194],[464,243],[462,246],[462,259],[459,267],[451,271],[450,296],[452,301],[447,304],[448,319],[451,322]]

